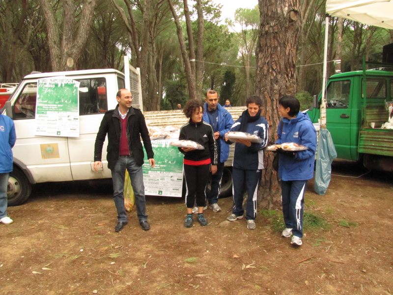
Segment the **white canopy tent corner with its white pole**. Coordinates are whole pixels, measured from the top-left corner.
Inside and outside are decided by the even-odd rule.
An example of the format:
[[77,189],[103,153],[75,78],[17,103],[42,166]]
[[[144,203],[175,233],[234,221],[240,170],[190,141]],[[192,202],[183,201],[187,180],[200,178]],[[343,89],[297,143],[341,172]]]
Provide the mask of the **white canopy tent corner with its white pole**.
[[323,55],[323,81],[321,127],[326,128],[326,75],[329,36],[329,16],[337,16],[362,24],[393,29],[393,0],[326,0],[325,48]]

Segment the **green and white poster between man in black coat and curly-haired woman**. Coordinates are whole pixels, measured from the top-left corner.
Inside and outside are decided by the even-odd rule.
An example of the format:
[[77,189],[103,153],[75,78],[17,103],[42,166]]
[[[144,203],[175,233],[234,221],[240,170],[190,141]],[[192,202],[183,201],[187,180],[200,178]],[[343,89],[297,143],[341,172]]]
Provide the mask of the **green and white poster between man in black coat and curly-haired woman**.
[[181,197],[183,184],[183,154],[169,145],[173,139],[152,140],[156,165],[151,168],[145,158],[143,182],[146,195]]

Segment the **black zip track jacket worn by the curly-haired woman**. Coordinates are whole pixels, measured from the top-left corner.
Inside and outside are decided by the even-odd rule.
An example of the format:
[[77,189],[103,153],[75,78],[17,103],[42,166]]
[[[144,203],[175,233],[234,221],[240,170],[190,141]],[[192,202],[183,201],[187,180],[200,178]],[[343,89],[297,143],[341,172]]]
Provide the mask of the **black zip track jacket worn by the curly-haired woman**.
[[212,165],[217,165],[216,141],[214,140],[214,132],[210,124],[203,120],[199,123],[194,123],[190,119],[187,124],[180,128],[179,140],[192,140],[205,148],[188,152],[184,152],[179,148],[186,160],[202,161],[210,158]]

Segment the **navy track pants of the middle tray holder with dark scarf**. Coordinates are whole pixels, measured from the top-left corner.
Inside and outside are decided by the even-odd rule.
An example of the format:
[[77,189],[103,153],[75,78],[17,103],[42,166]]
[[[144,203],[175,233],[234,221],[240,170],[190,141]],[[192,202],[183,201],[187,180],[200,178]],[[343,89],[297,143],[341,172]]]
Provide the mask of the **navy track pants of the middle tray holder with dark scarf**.
[[247,189],[246,219],[255,219],[257,215],[258,183],[262,170],[243,170],[233,167],[233,207],[232,213],[243,216],[244,188]]

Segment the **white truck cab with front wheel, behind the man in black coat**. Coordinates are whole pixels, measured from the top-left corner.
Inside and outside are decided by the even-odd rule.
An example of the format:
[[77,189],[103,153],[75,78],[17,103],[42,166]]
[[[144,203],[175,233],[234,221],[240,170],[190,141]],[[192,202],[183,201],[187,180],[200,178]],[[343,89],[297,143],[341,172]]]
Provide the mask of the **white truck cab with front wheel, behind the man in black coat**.
[[[79,137],[34,135],[37,81],[56,76],[80,82]],[[33,73],[20,82],[2,109],[3,115],[14,120],[17,135],[12,149],[14,170],[7,190],[9,206],[25,202],[34,183],[111,177],[109,169],[100,172],[93,169],[94,142],[104,113],[117,105],[118,89],[129,88],[134,95],[134,107],[140,107],[138,71],[132,68],[129,77],[126,79],[114,69],[95,69]],[[106,145],[103,155],[106,155],[105,150]],[[106,159],[103,162],[107,167]]]

